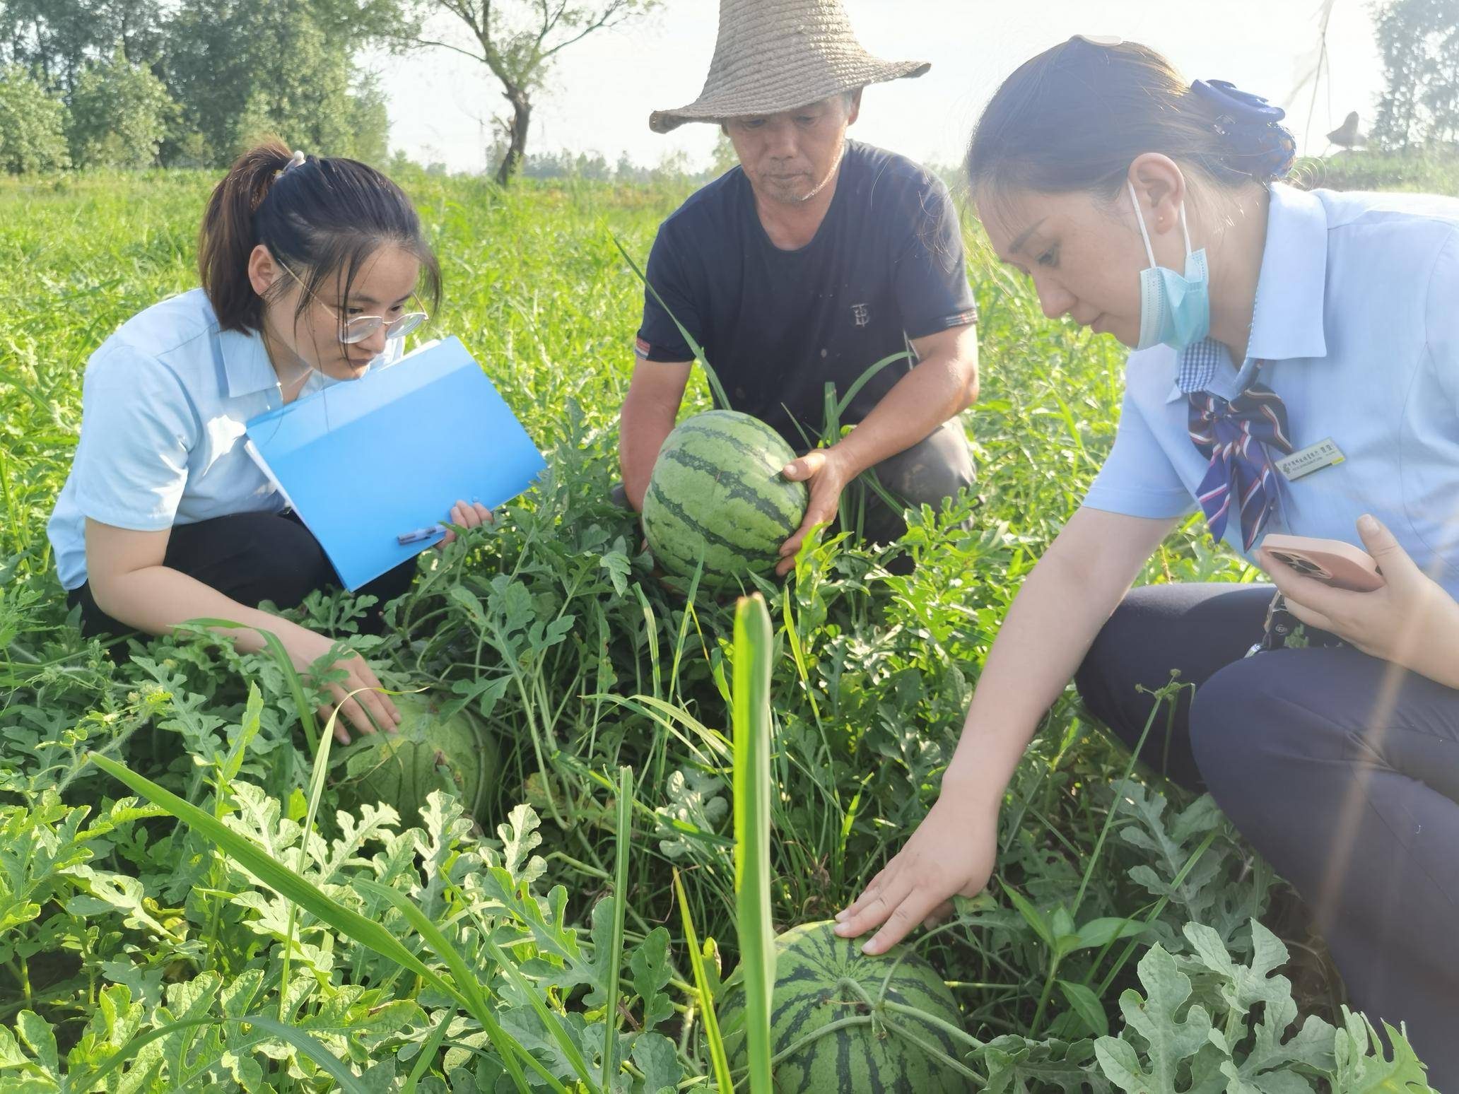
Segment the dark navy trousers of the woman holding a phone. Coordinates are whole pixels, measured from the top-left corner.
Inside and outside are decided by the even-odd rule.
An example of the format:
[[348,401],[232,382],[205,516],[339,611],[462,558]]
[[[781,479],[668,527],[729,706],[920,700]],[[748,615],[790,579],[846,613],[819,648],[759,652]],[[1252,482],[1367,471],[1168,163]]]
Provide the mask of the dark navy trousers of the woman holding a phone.
[[1354,1006],[1395,1027],[1436,1090],[1459,1091],[1459,691],[1355,649],[1261,637],[1271,586],[1134,589],[1077,675],[1134,745],[1160,687],[1182,688],[1141,759],[1208,789],[1317,919]]

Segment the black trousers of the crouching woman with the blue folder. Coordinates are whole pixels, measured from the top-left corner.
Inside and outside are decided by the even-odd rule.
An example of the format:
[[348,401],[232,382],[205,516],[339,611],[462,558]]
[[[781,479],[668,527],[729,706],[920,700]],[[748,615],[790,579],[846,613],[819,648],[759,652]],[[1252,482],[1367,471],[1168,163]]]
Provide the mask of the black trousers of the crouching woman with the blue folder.
[[[320,541],[292,511],[232,513],[174,525],[162,565],[251,608],[266,600],[292,608],[314,589],[343,588]],[[414,573],[416,560],[411,559],[357,589],[359,595],[378,598],[363,620],[366,630],[379,629],[379,610],[410,586]],[[104,613],[89,583],[71,589],[66,602],[82,605],[82,635],[86,637],[136,630]]]

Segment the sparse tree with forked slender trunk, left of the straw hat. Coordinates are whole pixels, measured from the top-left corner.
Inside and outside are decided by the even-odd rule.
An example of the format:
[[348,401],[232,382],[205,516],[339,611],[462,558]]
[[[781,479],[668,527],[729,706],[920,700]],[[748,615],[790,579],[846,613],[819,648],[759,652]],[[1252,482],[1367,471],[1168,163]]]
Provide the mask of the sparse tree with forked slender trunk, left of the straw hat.
[[[509,114],[502,125],[506,152],[496,169],[496,181],[506,184],[527,155],[527,130],[533,101],[550,76],[553,58],[594,31],[617,26],[624,19],[648,12],[661,0],[409,0],[413,19],[397,36],[397,47],[423,45],[454,50],[484,64],[502,85]],[[471,35],[470,45],[457,45],[425,36],[433,16],[448,13]],[[460,29],[460,28],[458,28]]]

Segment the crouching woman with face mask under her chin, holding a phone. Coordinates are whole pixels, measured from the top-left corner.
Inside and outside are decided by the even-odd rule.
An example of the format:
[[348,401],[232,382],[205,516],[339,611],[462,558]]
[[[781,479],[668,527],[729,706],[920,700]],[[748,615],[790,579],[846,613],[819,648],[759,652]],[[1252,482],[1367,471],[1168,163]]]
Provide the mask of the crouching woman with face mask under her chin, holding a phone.
[[[967,169],[999,257],[1049,317],[1137,352],[1115,446],[1008,611],[941,798],[839,929],[880,925],[880,953],[983,888],[1004,788],[1071,675],[1134,745],[1137,686],[1177,670],[1196,688],[1166,773],[1212,792],[1309,901],[1352,1004],[1406,1023],[1430,1081],[1459,1088],[1459,201],[1282,185],[1280,120],[1084,38],[988,105]],[[1271,586],[1129,592],[1196,508],[1304,648],[1266,624]],[[1297,576],[1266,531],[1363,544],[1386,583]]]

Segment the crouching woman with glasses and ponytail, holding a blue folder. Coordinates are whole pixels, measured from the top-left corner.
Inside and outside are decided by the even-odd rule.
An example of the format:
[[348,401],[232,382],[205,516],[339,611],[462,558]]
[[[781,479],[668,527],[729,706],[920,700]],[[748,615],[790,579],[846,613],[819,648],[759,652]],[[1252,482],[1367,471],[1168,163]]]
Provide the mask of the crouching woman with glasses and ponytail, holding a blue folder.
[[[88,636],[228,618],[274,632],[303,670],[330,639],[257,605],[340,582],[245,452],[244,424],[395,360],[426,318],[416,286],[439,300],[441,268],[394,182],[273,141],[213,190],[198,273],[201,289],[134,315],[86,365],[80,443],[48,528],[57,570]],[[457,502],[448,519],[476,527],[489,512]],[[368,624],[413,573],[411,560],[359,589],[379,598]],[[222,633],[263,646],[252,629]],[[388,696],[344,699],[379,687],[363,658],[340,667],[338,740],[346,721],[394,728]]]

